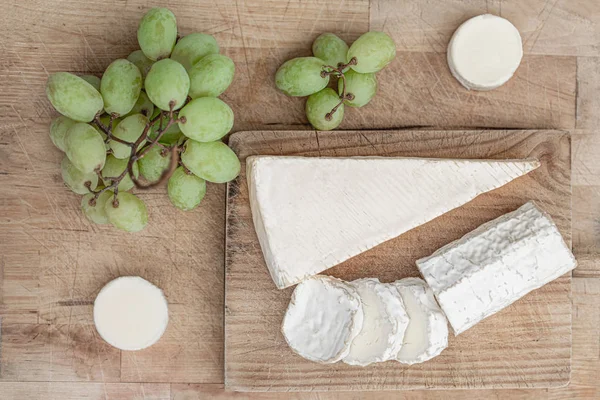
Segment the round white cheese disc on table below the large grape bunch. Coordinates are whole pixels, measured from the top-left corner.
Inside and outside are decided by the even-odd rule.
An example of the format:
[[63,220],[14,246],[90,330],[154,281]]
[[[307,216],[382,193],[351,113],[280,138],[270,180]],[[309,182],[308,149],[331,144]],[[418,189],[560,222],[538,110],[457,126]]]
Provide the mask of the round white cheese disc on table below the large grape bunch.
[[124,276],[102,288],[94,302],[96,330],[121,350],[141,350],[167,329],[169,310],[162,290],[138,276]]

